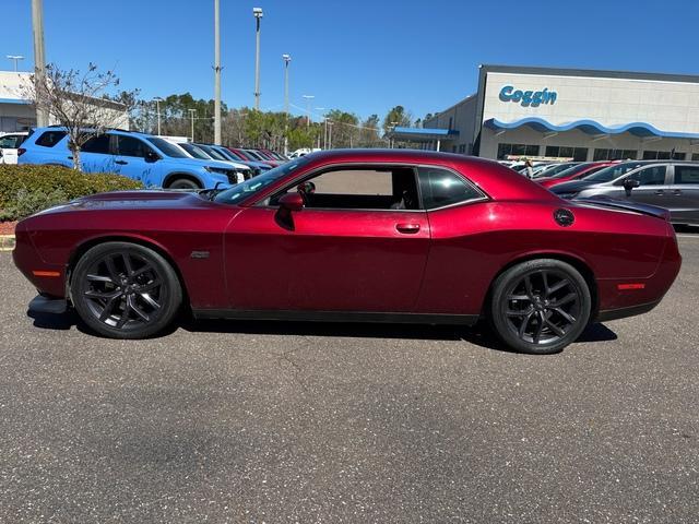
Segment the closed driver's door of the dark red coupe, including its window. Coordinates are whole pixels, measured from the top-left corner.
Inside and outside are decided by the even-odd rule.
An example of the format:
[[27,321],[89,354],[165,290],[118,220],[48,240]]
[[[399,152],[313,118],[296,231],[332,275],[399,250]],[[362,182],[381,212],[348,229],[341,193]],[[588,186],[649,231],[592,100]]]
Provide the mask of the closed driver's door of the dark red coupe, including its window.
[[[293,191],[305,207],[280,209]],[[413,168],[335,167],[241,211],[225,242],[234,309],[410,312],[429,223]]]

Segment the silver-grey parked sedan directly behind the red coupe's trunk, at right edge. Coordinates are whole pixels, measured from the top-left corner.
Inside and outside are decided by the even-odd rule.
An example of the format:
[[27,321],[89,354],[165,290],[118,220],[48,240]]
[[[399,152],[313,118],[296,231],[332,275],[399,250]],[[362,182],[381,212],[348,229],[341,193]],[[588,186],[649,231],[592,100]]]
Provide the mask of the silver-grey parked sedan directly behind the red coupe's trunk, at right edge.
[[565,199],[607,196],[670,210],[673,224],[699,225],[699,164],[629,160],[550,191]]

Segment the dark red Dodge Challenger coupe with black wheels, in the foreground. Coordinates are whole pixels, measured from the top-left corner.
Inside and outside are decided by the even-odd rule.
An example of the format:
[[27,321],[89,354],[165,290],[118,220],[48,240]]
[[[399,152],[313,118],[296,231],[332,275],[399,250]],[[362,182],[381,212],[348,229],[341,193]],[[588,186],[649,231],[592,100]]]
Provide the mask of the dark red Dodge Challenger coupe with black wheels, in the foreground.
[[31,309],[100,335],[196,318],[473,324],[562,349],[592,321],[649,311],[680,255],[664,210],[567,202],[494,162],[335,151],[226,190],[97,194],[17,225]]

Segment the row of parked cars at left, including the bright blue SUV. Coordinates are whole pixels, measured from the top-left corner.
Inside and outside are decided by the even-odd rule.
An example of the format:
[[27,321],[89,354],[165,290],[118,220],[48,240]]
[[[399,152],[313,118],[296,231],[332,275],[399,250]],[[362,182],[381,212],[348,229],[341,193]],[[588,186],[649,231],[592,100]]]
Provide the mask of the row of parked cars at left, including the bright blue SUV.
[[[16,134],[12,144],[5,136],[0,138],[7,145],[15,146],[14,155],[5,154],[10,147],[3,147],[3,158],[10,160],[7,163],[72,167],[73,157],[63,128],[37,128]],[[287,162],[283,155],[269,150],[191,143],[181,138],[118,129],[91,138],[80,155],[85,172],[116,172],[140,180],[149,188],[169,189],[235,184]]]

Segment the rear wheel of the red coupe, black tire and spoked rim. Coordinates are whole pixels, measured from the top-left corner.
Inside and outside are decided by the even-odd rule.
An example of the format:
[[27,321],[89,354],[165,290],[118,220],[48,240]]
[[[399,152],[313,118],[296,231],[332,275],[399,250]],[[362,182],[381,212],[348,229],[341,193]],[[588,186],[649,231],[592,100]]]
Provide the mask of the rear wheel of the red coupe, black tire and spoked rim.
[[538,259],[500,274],[488,309],[490,325],[505,344],[522,353],[549,355],[580,336],[590,320],[592,298],[572,265]]

